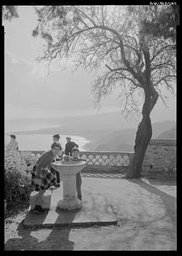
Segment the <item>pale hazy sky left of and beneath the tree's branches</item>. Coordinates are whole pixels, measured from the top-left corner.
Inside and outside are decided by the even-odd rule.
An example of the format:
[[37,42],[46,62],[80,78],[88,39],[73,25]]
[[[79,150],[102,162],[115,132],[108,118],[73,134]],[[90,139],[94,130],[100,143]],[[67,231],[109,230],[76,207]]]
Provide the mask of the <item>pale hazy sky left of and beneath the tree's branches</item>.
[[[31,6],[19,7],[20,18],[4,22],[5,30],[5,119],[56,118],[109,113],[121,110],[117,92],[94,107],[91,84],[94,74],[73,73],[74,64],[50,66],[36,61],[43,51],[40,38],[31,36],[37,16]],[[176,119],[176,98],[168,94],[168,108],[158,100],[151,113],[154,121]]]

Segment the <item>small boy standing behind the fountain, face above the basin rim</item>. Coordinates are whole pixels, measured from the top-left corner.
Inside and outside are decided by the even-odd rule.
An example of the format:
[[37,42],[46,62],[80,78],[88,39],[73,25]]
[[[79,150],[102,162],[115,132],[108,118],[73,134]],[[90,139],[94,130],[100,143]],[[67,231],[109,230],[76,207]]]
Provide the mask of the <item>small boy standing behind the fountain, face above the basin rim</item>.
[[[71,150],[71,160],[72,161],[87,161],[85,159],[82,159],[79,157],[79,149],[78,148],[72,148]],[[81,172],[77,172],[76,174],[76,183],[77,183],[77,198],[82,200],[82,192],[81,192],[81,185],[82,185],[82,177]]]

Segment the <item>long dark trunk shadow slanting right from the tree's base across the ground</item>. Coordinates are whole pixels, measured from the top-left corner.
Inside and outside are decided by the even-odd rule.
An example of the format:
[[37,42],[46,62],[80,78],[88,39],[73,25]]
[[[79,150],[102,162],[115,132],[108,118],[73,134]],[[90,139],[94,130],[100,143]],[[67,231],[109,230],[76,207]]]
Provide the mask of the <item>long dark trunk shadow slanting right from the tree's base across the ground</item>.
[[[163,205],[165,206],[168,217],[170,217],[173,222],[176,221],[176,198],[173,195],[168,195],[162,190],[156,188],[153,184],[147,183],[143,180],[143,178],[132,178],[128,179],[130,183],[138,184],[142,189],[147,190],[151,194],[155,194],[160,196]],[[151,180],[150,180],[151,182]]]

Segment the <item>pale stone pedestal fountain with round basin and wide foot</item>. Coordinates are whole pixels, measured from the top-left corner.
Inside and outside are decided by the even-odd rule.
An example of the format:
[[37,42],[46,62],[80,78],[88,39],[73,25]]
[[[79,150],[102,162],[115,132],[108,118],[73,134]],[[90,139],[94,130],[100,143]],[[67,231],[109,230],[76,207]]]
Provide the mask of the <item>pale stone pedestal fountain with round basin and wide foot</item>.
[[82,208],[82,201],[77,198],[76,174],[81,172],[87,163],[84,161],[57,161],[52,163],[53,168],[60,172],[63,183],[63,198],[58,201],[57,207],[61,210],[75,210]]

